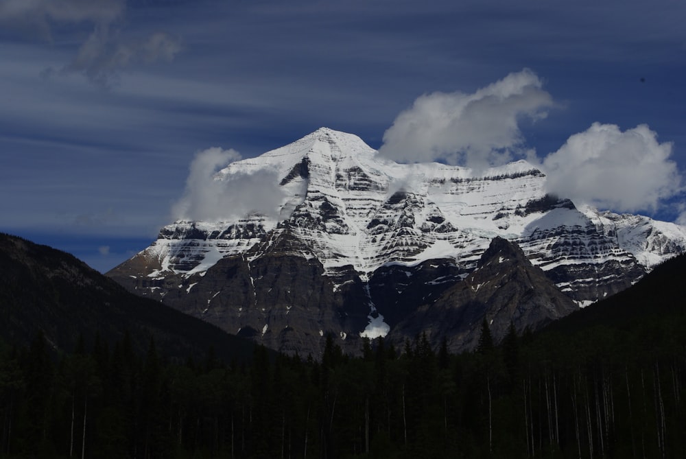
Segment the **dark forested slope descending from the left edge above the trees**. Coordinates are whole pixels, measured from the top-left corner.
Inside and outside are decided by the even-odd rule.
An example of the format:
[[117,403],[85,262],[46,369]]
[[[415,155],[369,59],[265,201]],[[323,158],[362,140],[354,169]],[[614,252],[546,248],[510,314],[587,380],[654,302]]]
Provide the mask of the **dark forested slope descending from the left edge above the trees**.
[[211,346],[227,361],[252,355],[252,343],[156,301],[132,295],[60,250],[0,234],[0,339],[27,346],[40,332],[58,352],[80,337],[108,344],[130,334],[137,353],[153,338],[167,357],[202,357]]

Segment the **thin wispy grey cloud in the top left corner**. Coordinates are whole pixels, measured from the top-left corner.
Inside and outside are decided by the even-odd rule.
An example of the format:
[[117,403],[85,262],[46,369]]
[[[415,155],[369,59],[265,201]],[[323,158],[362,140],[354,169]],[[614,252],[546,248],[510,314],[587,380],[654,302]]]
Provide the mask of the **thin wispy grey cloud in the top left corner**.
[[[178,38],[163,32],[126,38],[117,25],[125,7],[125,0],[3,0],[0,23],[36,28],[48,39],[51,23],[91,25],[91,34],[60,73],[82,73],[91,82],[107,87],[117,80],[121,69],[171,61],[182,49]],[[47,69],[43,75],[55,73],[56,69]]]

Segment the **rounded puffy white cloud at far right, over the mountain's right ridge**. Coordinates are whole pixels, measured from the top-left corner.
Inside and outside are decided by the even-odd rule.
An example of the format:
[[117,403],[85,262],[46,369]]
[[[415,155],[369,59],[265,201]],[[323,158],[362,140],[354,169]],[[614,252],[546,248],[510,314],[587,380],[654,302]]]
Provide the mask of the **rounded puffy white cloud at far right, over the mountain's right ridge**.
[[681,192],[671,143],[641,124],[622,132],[593,123],[543,159],[550,193],[614,211],[655,211]]

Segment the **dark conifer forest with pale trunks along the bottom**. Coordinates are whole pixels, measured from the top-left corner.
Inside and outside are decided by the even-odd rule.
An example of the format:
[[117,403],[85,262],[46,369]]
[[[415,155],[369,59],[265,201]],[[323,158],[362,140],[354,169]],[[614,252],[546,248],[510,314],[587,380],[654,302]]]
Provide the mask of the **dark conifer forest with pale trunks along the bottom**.
[[255,348],[167,362],[123,338],[58,359],[0,347],[0,457],[683,458],[680,320],[517,336],[449,355],[425,336],[320,361]]

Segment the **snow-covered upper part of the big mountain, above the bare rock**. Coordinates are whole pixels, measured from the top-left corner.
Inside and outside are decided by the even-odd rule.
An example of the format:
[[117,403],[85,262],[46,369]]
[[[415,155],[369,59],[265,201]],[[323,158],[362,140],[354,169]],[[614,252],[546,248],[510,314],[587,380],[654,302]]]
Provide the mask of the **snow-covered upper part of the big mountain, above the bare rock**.
[[470,270],[491,239],[503,237],[587,304],[621,290],[608,287],[614,277],[636,281],[686,250],[683,226],[546,196],[545,175],[526,161],[481,173],[440,163],[399,164],[353,134],[320,128],[231,163],[214,180],[230,183],[258,172],[279,180],[278,217],[174,222],[137,256],[145,265],[137,275],[191,276],[230,255],[257,259],[285,232],[300,242],[290,255],[318,259],[332,277],[346,266],[368,276],[383,266],[429,259]]

